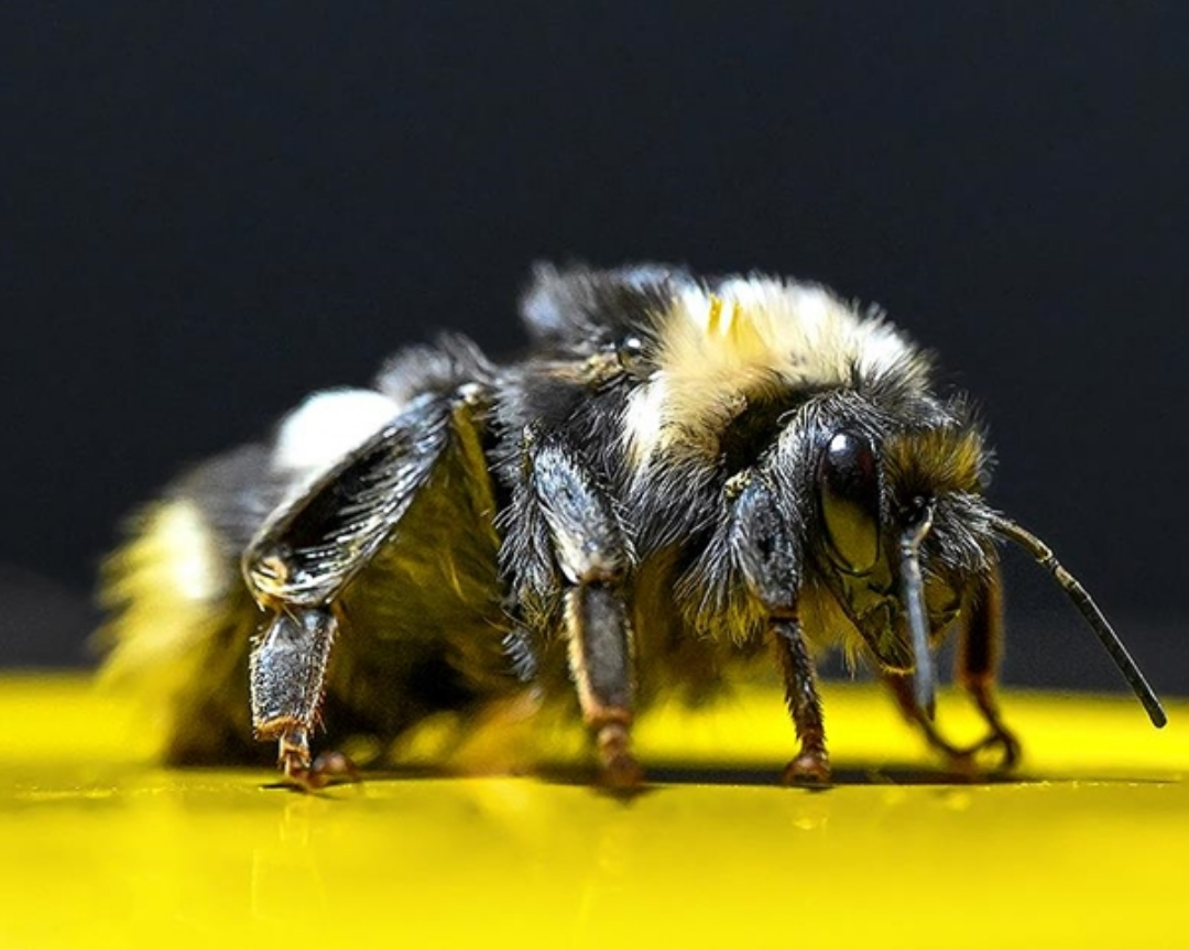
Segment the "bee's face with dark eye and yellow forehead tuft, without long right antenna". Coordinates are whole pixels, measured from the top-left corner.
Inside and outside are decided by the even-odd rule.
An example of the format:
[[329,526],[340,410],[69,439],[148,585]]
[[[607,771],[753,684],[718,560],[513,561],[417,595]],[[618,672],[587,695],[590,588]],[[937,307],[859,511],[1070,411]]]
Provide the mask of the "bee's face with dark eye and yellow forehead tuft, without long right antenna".
[[822,573],[880,666],[916,671],[925,705],[930,648],[993,566],[981,435],[952,416],[899,429],[843,422],[820,446]]

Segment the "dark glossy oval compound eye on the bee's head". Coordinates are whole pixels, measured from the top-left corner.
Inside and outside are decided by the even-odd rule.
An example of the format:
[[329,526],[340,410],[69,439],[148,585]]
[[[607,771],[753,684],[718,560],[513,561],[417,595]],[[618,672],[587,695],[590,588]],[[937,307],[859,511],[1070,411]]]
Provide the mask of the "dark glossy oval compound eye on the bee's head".
[[866,574],[880,556],[880,482],[875,448],[863,435],[839,432],[818,468],[822,520],[831,560]]

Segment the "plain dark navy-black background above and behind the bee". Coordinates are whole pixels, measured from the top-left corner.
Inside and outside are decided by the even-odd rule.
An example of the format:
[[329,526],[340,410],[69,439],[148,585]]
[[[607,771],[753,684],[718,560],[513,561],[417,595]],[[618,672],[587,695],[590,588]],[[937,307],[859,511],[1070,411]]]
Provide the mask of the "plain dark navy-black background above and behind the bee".
[[[7,7],[0,662],[86,660],[185,463],[435,328],[514,352],[534,259],[660,259],[883,304],[1189,692],[1189,5]],[[1115,687],[1008,560],[1008,681]]]

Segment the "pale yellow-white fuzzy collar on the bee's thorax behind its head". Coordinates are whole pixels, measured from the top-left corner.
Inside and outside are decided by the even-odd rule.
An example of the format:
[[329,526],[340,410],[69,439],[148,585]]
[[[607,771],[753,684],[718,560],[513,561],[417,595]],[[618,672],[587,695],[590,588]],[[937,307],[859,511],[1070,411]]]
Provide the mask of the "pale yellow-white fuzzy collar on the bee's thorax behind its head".
[[675,442],[713,455],[718,436],[748,399],[853,384],[927,364],[877,316],[812,284],[768,278],[682,290],[659,315],[658,369],[625,413],[628,457],[637,467]]

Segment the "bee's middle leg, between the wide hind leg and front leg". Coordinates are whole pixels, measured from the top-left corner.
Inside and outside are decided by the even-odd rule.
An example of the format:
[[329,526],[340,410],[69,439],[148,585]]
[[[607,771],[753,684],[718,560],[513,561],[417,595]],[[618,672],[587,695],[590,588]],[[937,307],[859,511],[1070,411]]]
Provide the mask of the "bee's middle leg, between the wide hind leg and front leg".
[[560,439],[537,449],[533,487],[564,575],[570,672],[605,780],[637,785],[631,751],[633,643],[624,581],[627,545],[605,492]]

